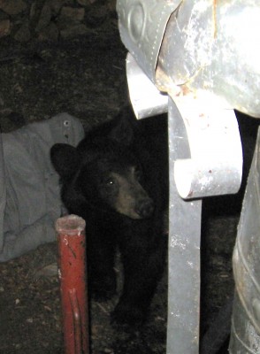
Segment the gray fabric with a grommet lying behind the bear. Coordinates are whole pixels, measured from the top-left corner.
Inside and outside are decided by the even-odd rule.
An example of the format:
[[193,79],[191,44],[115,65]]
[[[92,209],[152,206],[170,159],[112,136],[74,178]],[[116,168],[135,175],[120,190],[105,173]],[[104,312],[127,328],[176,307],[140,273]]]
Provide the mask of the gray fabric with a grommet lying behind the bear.
[[2,134],[0,262],[55,240],[53,225],[61,215],[62,203],[50,148],[56,142],[75,146],[83,135],[80,120],[67,113]]

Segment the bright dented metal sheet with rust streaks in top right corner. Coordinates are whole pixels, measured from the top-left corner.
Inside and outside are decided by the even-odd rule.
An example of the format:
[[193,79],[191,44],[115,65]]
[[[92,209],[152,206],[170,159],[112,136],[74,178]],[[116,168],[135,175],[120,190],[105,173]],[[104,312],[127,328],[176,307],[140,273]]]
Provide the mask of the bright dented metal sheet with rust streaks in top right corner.
[[259,18],[257,0],[181,2],[165,29],[158,86],[178,95],[206,90],[260,118]]

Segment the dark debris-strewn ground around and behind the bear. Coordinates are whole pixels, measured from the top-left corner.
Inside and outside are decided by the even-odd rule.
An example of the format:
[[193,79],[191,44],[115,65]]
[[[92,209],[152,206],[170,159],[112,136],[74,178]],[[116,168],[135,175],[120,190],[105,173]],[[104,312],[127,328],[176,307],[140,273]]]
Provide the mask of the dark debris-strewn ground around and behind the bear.
[[[69,112],[88,129],[110,119],[127,101],[126,49],[115,13],[80,37],[26,44],[6,39],[0,45],[3,131],[23,124],[19,119],[10,121],[11,112],[27,122]],[[238,212],[222,209],[218,215],[213,211],[203,216],[202,334],[233,294],[231,258],[239,208]],[[63,352],[58,279],[46,276],[46,268],[42,271],[48,266],[51,273],[56,258],[53,243],[0,265],[0,353]],[[110,325],[109,313],[117,298],[91,304],[92,354],[165,353],[166,289],[165,271],[148,323],[133,332],[120,333]]]

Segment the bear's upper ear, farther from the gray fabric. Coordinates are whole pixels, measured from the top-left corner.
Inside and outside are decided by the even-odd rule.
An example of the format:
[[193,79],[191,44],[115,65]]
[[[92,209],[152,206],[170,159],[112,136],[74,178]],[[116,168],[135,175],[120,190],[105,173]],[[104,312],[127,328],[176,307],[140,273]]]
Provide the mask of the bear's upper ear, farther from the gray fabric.
[[136,129],[136,119],[134,112],[126,106],[114,119],[110,137],[119,143],[129,146],[134,142],[134,131]]

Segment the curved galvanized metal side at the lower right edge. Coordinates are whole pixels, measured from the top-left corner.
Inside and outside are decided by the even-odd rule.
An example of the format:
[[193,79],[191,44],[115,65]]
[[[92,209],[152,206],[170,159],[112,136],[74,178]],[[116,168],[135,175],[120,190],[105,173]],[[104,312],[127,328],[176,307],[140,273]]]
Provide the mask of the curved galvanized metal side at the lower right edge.
[[260,352],[260,130],[233,250],[232,354]]

